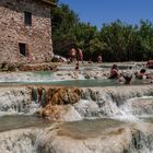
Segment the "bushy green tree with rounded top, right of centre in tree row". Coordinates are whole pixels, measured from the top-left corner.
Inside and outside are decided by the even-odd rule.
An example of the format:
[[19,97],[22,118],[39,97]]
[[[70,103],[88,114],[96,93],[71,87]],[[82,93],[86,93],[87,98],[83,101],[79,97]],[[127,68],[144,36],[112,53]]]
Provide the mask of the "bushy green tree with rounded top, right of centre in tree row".
[[137,26],[123,24],[121,21],[103,25],[101,38],[107,44],[109,54],[114,56],[114,61],[128,61],[132,59],[132,54],[137,48]]

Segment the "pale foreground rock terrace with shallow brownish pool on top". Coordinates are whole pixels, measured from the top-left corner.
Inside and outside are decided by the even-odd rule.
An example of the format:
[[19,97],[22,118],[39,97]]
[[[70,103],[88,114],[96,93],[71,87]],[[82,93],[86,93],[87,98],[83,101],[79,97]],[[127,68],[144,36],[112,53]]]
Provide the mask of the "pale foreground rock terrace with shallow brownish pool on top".
[[146,153],[152,152],[152,140],[151,123],[102,119],[1,132],[0,149],[5,153]]

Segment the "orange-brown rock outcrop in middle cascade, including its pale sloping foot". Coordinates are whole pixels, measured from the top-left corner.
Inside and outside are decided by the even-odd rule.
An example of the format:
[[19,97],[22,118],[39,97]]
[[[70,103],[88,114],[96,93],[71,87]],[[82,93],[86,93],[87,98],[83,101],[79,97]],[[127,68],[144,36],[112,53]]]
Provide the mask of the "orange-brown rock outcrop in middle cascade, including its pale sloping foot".
[[[38,92],[40,95],[43,89]],[[46,106],[37,114],[49,117],[51,120],[78,120],[81,119],[78,111],[72,107],[81,98],[81,89],[78,87],[55,87],[46,89]]]

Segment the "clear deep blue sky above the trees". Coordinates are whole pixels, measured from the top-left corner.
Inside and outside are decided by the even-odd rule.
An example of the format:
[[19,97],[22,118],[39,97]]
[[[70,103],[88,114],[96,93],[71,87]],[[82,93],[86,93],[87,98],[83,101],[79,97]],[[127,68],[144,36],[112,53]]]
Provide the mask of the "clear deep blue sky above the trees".
[[117,19],[126,24],[139,24],[140,20],[153,22],[153,0],[60,0],[69,4],[82,22],[98,28]]

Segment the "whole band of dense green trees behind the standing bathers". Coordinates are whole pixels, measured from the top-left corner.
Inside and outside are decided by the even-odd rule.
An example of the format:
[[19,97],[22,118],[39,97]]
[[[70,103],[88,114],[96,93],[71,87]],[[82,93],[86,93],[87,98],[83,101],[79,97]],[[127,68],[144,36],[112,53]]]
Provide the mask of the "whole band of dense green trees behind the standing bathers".
[[82,23],[69,5],[60,4],[52,12],[52,42],[55,54],[64,57],[71,47],[80,47],[85,60],[95,61],[98,55],[104,61],[148,60],[153,58],[153,24],[128,25],[117,20],[98,31]]

